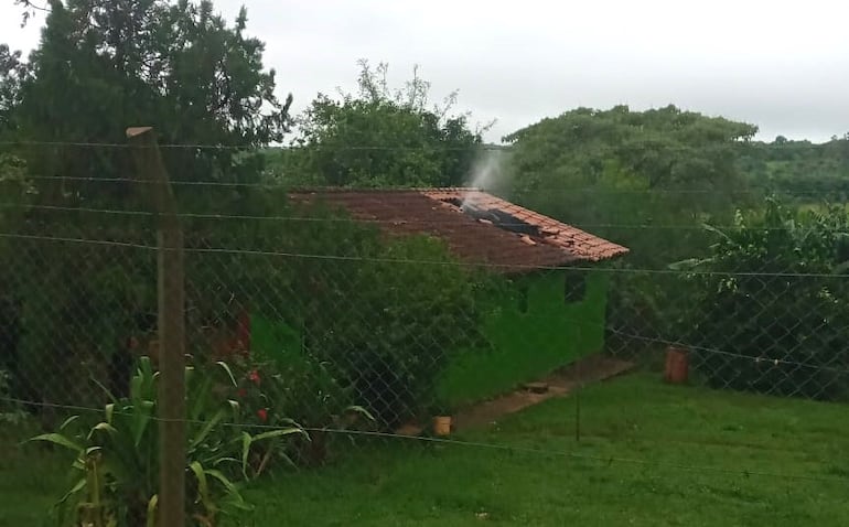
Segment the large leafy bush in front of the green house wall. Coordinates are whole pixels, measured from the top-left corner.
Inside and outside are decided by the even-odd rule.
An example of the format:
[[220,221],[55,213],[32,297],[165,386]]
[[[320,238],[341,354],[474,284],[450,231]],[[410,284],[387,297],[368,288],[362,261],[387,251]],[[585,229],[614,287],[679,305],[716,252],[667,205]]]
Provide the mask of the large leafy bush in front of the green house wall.
[[271,408],[310,428],[352,405],[380,427],[416,417],[448,355],[481,338],[475,277],[432,238],[387,238],[322,203],[287,215],[300,221],[193,225],[204,244],[251,254],[187,255],[190,327],[247,308],[260,321],[251,354],[282,379]]

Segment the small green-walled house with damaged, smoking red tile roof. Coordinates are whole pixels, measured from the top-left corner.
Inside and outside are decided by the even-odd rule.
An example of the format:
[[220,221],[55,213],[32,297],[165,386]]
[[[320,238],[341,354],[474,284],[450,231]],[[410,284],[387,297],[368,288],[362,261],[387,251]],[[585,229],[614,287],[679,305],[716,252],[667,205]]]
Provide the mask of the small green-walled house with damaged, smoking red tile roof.
[[487,353],[459,354],[440,380],[455,404],[537,379],[604,344],[608,275],[600,262],[627,252],[614,243],[476,189],[322,190],[294,202],[340,207],[389,235],[428,235],[505,287],[488,292]]

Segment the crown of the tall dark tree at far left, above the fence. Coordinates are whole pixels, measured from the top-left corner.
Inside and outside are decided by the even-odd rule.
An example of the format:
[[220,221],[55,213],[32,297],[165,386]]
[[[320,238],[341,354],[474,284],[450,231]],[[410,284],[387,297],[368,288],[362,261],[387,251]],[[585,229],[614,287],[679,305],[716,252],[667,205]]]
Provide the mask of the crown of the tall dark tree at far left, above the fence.
[[[259,158],[241,169],[235,161],[240,150],[282,140],[291,96],[277,98],[275,72],[262,67],[265,45],[245,35],[246,25],[244,8],[230,26],[207,0],[52,0],[26,64],[0,49],[0,126],[22,141],[116,143],[127,126],[152,125],[162,142],[227,147],[169,149],[165,161],[182,179],[256,174]],[[21,155],[46,175],[129,170],[126,152],[108,149],[42,147]],[[55,201],[94,191],[66,182],[62,193],[45,192]]]

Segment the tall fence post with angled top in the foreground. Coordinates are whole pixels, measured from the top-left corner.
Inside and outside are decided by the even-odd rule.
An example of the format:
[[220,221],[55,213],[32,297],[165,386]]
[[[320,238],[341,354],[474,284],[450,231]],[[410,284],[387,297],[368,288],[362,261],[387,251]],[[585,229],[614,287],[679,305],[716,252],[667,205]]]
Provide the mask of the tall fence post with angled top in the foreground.
[[183,228],[162,155],[150,127],[128,128],[143,189],[152,198],[158,225],[160,527],[185,525],[185,281]]

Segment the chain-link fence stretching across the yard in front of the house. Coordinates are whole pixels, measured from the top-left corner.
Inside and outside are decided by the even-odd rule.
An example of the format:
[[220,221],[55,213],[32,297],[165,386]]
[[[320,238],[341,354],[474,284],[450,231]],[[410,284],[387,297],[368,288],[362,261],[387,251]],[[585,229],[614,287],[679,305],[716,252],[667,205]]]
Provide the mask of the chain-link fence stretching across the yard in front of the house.
[[[90,463],[119,441],[139,455],[155,451],[157,271],[172,249],[160,247],[159,218],[143,205],[63,203],[0,203],[0,444],[25,451],[39,437],[78,447]],[[542,235],[509,218],[472,222],[501,238],[460,225],[445,241],[451,219],[258,209],[178,214],[186,235],[180,422],[190,455],[221,465],[212,477],[295,477],[397,445],[821,486],[847,480],[832,452],[843,447],[838,420],[799,424],[849,402],[845,224],[720,224],[691,260],[675,261],[671,238],[702,225],[578,223],[594,249],[608,247],[590,234],[603,230],[616,243],[651,239],[657,254],[561,261],[539,257]],[[781,244],[791,249],[775,250]],[[475,258],[459,256],[463,248]],[[755,435],[746,427],[759,417]],[[448,430],[442,418],[453,419]],[[692,451],[745,462],[690,462]],[[794,467],[775,470],[780,459]]]

